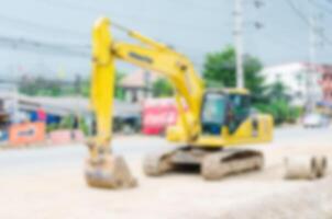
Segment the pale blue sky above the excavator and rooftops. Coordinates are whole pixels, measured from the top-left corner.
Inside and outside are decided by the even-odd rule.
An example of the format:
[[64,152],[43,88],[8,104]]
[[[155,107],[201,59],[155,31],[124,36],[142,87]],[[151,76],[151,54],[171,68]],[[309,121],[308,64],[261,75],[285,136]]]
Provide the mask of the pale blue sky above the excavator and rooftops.
[[[11,0],[0,8],[0,78],[40,74],[70,79],[90,74],[91,26],[102,15],[187,55],[201,70],[204,56],[219,51],[233,39],[233,0]],[[309,60],[309,12],[319,31],[317,61],[332,64],[332,0],[243,0],[244,53],[265,66]],[[305,16],[305,18],[303,18]],[[255,22],[263,27],[256,28]],[[117,39],[129,41],[114,31]],[[4,38],[34,41],[81,48],[77,56],[12,45]],[[132,71],[119,65],[122,71]]]

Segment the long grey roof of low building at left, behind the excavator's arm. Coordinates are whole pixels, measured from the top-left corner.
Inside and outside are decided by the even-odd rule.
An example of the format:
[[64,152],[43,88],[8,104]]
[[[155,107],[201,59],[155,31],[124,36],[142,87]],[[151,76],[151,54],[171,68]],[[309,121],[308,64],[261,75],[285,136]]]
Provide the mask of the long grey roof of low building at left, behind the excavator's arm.
[[[15,95],[14,95],[15,94]],[[113,117],[128,117],[132,115],[141,114],[141,105],[129,103],[125,101],[114,100]],[[13,112],[13,108],[15,108]],[[47,120],[51,119],[58,122],[63,117],[69,115],[86,115],[90,113],[90,101],[86,97],[78,96],[62,96],[62,97],[51,97],[51,96],[27,96],[19,93],[12,92],[1,92],[0,93],[0,119],[2,113],[13,115],[11,117],[19,117],[20,113],[27,114],[29,119],[35,117],[35,113],[43,110],[47,114]],[[16,118],[20,119],[20,118]],[[11,123],[15,123],[14,118]]]

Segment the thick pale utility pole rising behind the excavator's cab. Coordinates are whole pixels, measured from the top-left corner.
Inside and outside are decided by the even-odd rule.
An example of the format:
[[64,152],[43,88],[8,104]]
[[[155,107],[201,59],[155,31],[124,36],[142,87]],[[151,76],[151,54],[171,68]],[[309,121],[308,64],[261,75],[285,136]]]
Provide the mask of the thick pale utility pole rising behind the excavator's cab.
[[234,41],[236,51],[236,88],[244,88],[243,74],[243,0],[234,0]]

